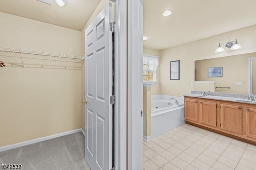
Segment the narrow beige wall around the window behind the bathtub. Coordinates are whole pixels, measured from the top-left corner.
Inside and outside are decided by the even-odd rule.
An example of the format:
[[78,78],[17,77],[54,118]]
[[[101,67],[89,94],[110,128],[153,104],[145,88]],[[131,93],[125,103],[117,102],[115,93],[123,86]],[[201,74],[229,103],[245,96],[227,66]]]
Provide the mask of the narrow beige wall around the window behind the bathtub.
[[[158,56],[160,60],[160,50],[143,47],[143,53]],[[157,83],[151,86],[151,95],[160,95],[160,64],[156,67],[156,81]]]

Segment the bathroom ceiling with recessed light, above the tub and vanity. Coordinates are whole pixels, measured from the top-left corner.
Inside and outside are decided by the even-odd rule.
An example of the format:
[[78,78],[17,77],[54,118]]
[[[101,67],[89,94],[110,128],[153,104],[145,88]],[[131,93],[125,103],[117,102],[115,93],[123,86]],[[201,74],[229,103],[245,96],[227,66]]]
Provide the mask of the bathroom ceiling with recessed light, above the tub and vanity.
[[[166,49],[254,25],[255,7],[256,0],[144,0],[144,47]],[[166,10],[173,14],[162,16]]]

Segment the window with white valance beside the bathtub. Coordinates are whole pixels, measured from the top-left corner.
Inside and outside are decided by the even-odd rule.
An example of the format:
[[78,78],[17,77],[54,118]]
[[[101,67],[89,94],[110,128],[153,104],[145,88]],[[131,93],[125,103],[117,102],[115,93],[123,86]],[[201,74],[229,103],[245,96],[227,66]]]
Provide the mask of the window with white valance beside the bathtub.
[[158,57],[143,55],[143,81],[156,81]]

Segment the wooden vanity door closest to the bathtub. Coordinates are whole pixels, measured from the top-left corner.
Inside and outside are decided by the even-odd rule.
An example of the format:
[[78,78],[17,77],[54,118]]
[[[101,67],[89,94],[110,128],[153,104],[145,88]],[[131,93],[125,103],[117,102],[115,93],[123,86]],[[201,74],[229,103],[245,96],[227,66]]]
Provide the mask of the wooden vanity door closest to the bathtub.
[[198,101],[185,99],[185,120],[198,122]]

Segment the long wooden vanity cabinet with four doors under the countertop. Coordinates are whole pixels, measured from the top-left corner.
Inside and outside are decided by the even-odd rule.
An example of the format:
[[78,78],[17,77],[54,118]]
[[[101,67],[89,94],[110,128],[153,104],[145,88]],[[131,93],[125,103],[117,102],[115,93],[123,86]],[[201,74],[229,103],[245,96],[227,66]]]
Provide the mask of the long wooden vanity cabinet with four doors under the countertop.
[[256,145],[256,105],[185,97],[186,123]]

